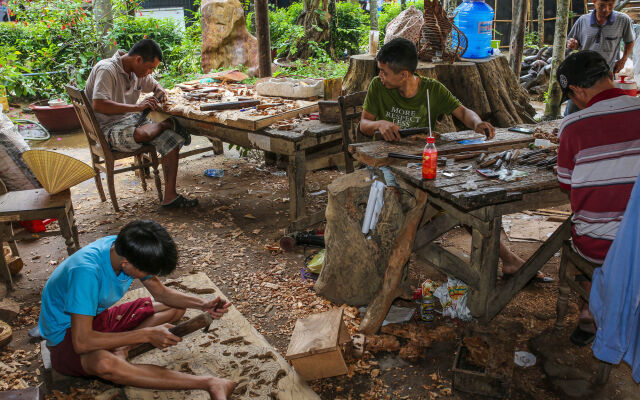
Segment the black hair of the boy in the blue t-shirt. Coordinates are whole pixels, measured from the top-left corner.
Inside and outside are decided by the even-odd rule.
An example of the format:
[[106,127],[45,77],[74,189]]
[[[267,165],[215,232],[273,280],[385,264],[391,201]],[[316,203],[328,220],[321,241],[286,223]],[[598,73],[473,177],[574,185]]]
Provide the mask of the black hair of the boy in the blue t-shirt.
[[178,264],[178,250],[171,235],[151,220],[129,222],[118,233],[114,246],[120,257],[151,275],[168,275]]

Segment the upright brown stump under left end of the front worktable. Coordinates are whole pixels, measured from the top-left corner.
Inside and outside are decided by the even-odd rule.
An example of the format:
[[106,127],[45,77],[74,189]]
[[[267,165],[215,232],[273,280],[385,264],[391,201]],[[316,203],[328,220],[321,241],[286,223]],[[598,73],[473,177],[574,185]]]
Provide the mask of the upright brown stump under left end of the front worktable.
[[[373,232],[361,232],[372,181],[358,170],[334,180],[328,189],[324,266],[314,289],[334,303],[367,305],[382,287],[391,249],[405,221],[410,196],[384,191],[384,206]],[[405,276],[406,277],[406,276]],[[404,281],[403,281],[404,282]]]

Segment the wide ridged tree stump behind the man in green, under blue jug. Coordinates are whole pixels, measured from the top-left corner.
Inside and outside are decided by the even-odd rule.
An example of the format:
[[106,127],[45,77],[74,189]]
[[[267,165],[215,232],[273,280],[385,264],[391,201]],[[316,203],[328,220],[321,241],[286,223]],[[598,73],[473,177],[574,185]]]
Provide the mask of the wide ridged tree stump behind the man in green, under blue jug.
[[[367,90],[377,73],[373,56],[352,56],[343,80],[343,92],[348,94]],[[496,127],[508,128],[517,124],[535,123],[535,110],[529,104],[529,95],[518,84],[504,56],[466,59],[453,64],[421,61],[416,73],[441,82],[465,107]],[[450,128],[447,131],[440,130],[441,132],[468,129],[461,124],[455,129],[451,116],[443,118],[441,123],[441,129]]]

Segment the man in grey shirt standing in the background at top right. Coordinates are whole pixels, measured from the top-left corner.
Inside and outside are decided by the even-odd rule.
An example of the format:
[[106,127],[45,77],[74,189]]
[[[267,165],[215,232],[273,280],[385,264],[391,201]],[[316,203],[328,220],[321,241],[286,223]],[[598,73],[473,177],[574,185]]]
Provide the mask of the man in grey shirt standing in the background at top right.
[[[624,68],[635,40],[633,21],[627,14],[615,11],[615,5],[616,0],[596,0],[594,10],[573,24],[567,40],[567,47],[571,50],[593,50],[600,54],[614,75]],[[624,42],[622,57],[621,42]],[[578,110],[569,100],[565,115]]]

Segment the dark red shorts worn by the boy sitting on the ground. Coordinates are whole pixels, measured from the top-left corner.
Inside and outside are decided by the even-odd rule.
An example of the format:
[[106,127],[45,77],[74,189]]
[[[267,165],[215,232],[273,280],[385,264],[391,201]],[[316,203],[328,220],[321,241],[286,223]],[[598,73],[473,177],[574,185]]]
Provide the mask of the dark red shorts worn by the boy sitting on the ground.
[[[151,298],[143,297],[104,310],[93,319],[93,330],[98,332],[130,331],[152,316],[153,313]],[[67,329],[62,342],[57,346],[49,347],[49,351],[51,352],[51,366],[56,371],[69,376],[89,376],[82,368],[80,355],[73,349],[71,328]]]

